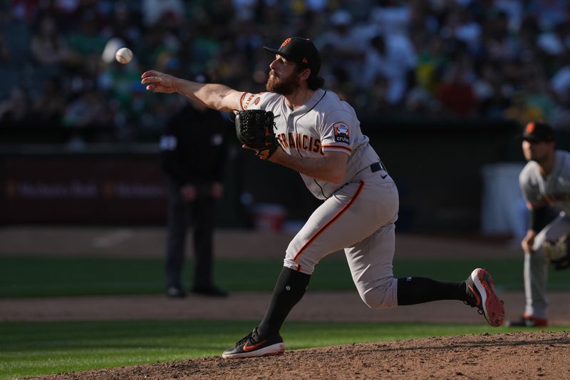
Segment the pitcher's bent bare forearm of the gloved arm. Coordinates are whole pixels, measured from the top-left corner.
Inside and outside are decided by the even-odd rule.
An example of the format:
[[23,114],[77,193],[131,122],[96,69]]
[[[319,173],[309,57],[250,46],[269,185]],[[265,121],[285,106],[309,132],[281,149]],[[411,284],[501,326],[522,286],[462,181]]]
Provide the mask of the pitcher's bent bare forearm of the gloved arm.
[[284,153],[279,148],[269,160],[309,177],[331,183],[341,183],[346,173],[346,158],[339,156],[299,157]]

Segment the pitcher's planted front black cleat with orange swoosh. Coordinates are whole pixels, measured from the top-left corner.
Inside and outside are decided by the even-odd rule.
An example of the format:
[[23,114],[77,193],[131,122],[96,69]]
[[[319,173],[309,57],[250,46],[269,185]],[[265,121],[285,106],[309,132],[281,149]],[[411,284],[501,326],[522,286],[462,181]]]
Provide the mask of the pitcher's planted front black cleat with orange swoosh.
[[222,354],[224,359],[250,358],[257,356],[269,356],[283,354],[285,344],[279,333],[270,335],[269,337],[259,337],[257,327],[247,334],[244,339],[236,343],[235,346],[229,347]]

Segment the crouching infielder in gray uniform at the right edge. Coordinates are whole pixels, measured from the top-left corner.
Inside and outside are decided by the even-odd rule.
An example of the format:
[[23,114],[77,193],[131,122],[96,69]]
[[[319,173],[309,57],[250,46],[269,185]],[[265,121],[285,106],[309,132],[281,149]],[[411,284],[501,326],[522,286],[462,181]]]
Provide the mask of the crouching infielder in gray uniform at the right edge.
[[[522,134],[522,152],[528,160],[519,175],[530,212],[530,225],[521,245],[524,251],[524,293],[527,306],[510,326],[545,327],[546,280],[549,263],[563,269],[567,262],[566,234],[570,232],[570,153],[556,150],[549,125],[528,123]],[[549,206],[559,211],[554,220]],[[560,250],[556,250],[559,247]],[[558,251],[558,252],[556,252]],[[565,259],[566,257],[566,259]]]

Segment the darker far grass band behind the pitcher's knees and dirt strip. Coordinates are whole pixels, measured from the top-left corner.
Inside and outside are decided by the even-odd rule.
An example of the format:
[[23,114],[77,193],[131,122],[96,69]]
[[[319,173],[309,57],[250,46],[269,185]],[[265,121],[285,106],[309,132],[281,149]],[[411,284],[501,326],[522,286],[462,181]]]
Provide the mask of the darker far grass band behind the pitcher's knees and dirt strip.
[[[53,297],[163,292],[163,262],[146,258],[0,257],[0,297]],[[216,282],[232,292],[271,291],[281,260],[218,260]],[[459,281],[475,267],[489,269],[497,289],[522,290],[522,258],[497,260],[396,260],[396,277]],[[190,273],[191,269],[187,270]],[[550,290],[568,290],[568,272],[550,272]],[[190,277],[187,277],[190,284]],[[346,260],[327,257],[316,267],[310,289],[353,290]]]

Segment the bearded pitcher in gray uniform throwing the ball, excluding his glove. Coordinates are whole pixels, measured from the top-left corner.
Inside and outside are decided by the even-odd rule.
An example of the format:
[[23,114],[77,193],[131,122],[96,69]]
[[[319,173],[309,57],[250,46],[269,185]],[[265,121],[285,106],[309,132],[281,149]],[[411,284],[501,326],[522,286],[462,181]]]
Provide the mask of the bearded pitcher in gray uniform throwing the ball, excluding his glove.
[[280,148],[269,157],[258,156],[299,172],[307,188],[323,200],[287,247],[264,319],[222,356],[281,354],[281,325],[303,297],[315,265],[337,250],[346,253],[356,289],[369,307],[457,299],[477,307],[492,326],[502,324],[504,306],[485,269],[473,270],[461,282],[394,278],[398,190],[361,132],[353,108],[322,88],[321,58],[312,41],[292,37],[279,49],[265,49],[275,54],[266,93],[185,81],[157,71],[142,74],[141,83],[149,91],[180,93],[223,111],[272,111]]

